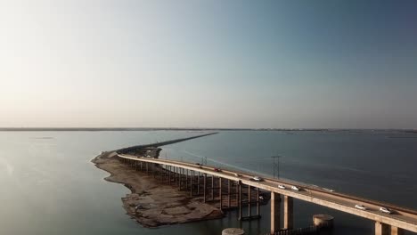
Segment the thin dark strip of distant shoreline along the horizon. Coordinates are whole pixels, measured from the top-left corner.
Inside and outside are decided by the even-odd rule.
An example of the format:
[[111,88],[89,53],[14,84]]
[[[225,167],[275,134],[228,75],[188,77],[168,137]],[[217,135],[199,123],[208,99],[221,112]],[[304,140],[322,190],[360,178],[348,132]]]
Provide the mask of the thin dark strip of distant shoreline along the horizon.
[[287,131],[287,132],[363,132],[396,131],[415,133],[417,129],[348,129],[348,128],[187,128],[187,127],[0,127],[0,132],[114,132],[114,131]]

